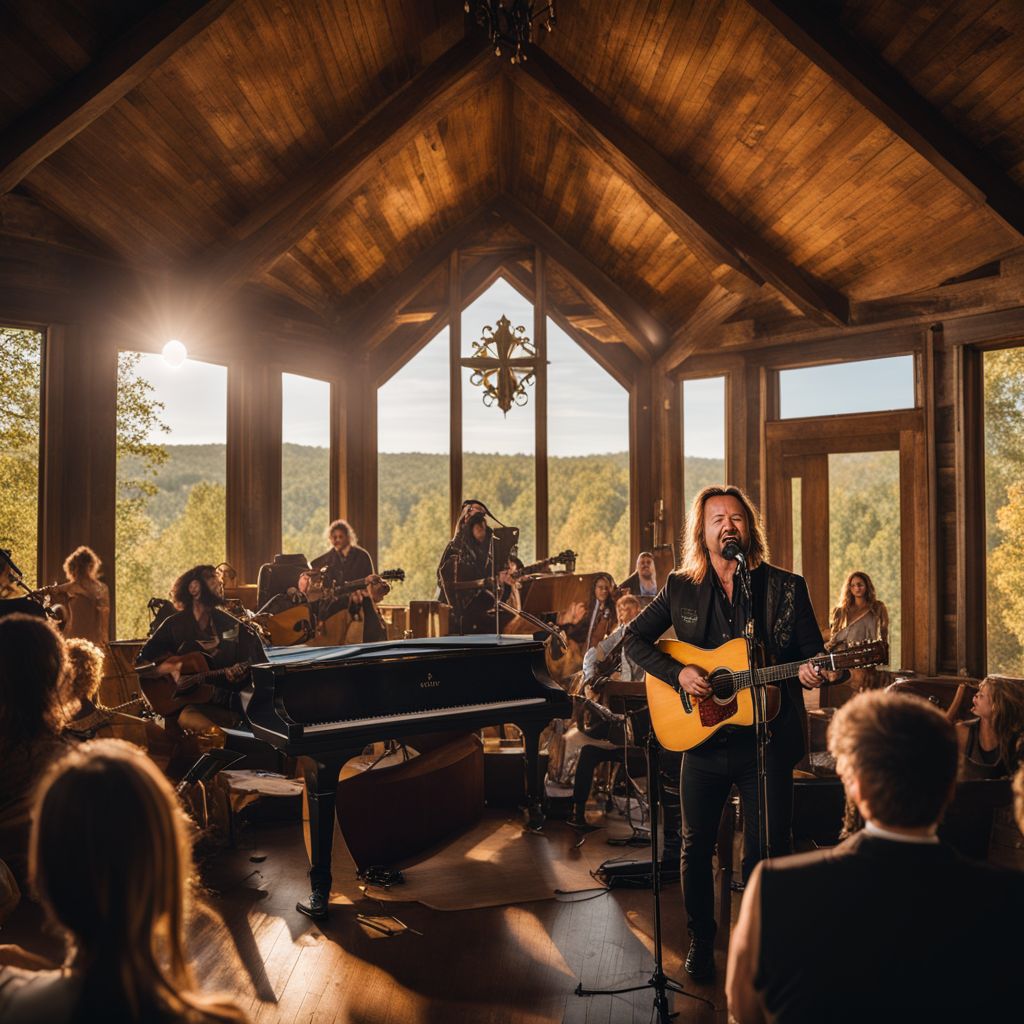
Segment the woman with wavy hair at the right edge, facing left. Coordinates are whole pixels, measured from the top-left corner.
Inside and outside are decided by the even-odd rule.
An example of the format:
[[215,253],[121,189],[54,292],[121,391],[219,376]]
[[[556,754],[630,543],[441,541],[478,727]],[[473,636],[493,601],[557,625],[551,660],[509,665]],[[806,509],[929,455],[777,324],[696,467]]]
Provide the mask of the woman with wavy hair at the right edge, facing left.
[[1024,679],[986,676],[971,710],[977,718],[956,724],[961,778],[1012,775],[1024,739]]

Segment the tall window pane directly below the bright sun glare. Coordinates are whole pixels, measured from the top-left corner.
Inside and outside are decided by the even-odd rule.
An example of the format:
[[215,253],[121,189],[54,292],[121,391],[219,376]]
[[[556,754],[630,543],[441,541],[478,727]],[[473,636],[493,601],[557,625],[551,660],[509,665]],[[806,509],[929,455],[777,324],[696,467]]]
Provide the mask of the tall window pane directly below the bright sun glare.
[[117,439],[117,635],[142,636],[151,597],[224,560],[226,369],[122,352]]

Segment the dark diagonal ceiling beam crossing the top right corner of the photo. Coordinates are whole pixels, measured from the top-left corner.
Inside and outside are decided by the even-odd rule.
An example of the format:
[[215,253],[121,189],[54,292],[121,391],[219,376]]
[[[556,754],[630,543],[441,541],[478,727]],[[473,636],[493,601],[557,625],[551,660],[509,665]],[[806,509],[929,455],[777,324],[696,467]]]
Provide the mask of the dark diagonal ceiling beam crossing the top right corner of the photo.
[[1024,234],[1024,189],[914,92],[894,68],[818,14],[813,4],[746,2],[961,191]]

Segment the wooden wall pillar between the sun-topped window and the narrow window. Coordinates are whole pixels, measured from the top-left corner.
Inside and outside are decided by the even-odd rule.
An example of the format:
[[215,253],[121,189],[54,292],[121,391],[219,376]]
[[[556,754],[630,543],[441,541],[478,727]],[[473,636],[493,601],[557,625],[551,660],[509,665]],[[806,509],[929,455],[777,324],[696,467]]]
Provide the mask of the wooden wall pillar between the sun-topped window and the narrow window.
[[251,354],[227,368],[226,559],[240,584],[281,548],[280,368]]

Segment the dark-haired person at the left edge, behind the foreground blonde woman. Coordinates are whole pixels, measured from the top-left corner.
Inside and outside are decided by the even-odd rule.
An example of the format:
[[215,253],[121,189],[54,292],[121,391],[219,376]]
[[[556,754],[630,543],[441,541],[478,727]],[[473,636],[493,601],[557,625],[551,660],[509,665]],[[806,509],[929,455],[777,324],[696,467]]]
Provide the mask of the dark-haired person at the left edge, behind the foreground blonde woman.
[[0,860],[24,889],[32,792],[63,753],[65,642],[45,618],[0,618]]

